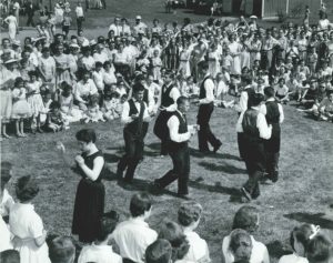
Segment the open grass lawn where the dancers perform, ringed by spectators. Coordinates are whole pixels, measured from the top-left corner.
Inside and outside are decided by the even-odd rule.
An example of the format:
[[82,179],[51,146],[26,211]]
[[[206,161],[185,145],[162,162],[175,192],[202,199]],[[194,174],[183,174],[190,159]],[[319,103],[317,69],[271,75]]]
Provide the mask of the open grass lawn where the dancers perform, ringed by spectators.
[[[273,263],[289,250],[287,239],[293,226],[311,222],[327,231],[333,230],[332,123],[309,119],[296,112],[294,107],[287,105],[284,110],[281,179],[276,184],[262,185],[261,198],[253,202],[261,214],[255,237],[269,246]],[[189,114],[190,123],[194,123],[196,111],[193,105]],[[238,161],[235,122],[234,111],[214,111],[212,130],[223,141],[216,155],[200,158],[195,151],[196,138],[190,143],[193,149],[190,191],[204,208],[198,231],[208,241],[213,262],[219,262],[222,237],[230,232],[235,211],[243,205],[232,198],[246,180],[245,165]],[[98,145],[105,154],[110,171],[104,181],[107,211],[117,210],[123,220],[129,215],[129,201],[134,191],[124,190],[112,176],[123,146],[122,128],[118,121],[73,124],[64,132],[30,134],[27,139],[13,138],[1,144],[2,160],[14,164],[14,178],[30,174],[38,179],[40,194],[33,203],[46,229],[52,234],[70,234],[75,188],[80,180],[58,155],[56,143],[62,141],[68,150],[68,160],[73,160],[79,153],[74,134],[85,127],[97,130]],[[135,191],[145,190],[150,181],[171,168],[169,158],[158,158],[159,144],[152,133],[152,124],[145,144],[145,158],[135,174]],[[170,193],[154,196],[153,214],[149,220],[154,229],[164,218],[176,220],[182,200],[171,194],[176,191],[175,184],[169,190]]]

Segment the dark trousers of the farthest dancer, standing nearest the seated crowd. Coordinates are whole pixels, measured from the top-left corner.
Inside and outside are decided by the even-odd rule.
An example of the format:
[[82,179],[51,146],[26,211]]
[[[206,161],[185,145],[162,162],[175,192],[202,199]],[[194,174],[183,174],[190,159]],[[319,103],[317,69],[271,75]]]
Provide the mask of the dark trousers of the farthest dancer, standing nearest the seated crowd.
[[214,104],[201,104],[199,107],[198,112],[198,124],[200,125],[199,132],[198,132],[198,140],[199,140],[199,151],[206,152],[209,151],[209,143],[212,146],[215,146],[220,143],[220,141],[215,138],[215,135],[212,133],[210,128],[210,119],[212,115],[212,112],[214,110]]

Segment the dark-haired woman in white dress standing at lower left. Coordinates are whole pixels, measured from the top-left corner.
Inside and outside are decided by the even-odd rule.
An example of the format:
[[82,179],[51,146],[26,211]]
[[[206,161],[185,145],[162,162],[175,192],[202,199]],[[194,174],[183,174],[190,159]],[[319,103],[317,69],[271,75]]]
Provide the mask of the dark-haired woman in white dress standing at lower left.
[[47,231],[31,204],[38,192],[39,186],[33,179],[18,179],[16,193],[19,202],[11,208],[9,225],[14,236],[14,249],[20,252],[21,263],[51,263],[46,243]]

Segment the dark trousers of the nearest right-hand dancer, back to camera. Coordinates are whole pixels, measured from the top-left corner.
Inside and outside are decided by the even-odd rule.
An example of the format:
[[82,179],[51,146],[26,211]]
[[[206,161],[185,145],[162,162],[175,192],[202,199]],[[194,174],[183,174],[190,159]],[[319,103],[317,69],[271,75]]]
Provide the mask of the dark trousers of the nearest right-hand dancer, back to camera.
[[249,174],[244,188],[255,199],[260,195],[259,180],[265,170],[264,142],[260,139],[253,140],[244,134],[244,161]]

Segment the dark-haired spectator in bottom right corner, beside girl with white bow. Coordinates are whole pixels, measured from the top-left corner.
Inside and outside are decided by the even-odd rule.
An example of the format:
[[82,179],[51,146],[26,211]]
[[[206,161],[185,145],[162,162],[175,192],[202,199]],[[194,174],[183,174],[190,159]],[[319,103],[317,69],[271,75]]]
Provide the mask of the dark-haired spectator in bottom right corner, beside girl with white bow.
[[309,263],[332,263],[333,243],[323,233],[316,233],[310,239],[306,257]]

